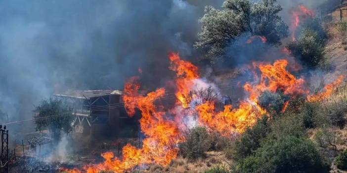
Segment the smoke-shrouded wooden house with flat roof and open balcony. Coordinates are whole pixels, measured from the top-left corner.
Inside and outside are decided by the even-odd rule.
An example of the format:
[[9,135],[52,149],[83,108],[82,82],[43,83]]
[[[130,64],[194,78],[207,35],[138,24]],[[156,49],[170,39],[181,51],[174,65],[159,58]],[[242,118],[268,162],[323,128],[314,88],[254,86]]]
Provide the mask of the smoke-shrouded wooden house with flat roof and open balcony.
[[121,118],[128,118],[118,90],[68,91],[55,94],[74,108],[75,132],[95,136],[119,132]]

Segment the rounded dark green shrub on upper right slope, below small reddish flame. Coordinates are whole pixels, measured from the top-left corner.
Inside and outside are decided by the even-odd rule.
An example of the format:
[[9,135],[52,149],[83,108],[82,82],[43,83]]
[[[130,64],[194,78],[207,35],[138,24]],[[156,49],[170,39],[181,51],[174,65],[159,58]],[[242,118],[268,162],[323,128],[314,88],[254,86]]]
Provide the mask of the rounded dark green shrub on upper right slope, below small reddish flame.
[[304,29],[299,39],[289,43],[287,48],[296,58],[311,67],[325,63],[324,46],[325,40],[317,32]]

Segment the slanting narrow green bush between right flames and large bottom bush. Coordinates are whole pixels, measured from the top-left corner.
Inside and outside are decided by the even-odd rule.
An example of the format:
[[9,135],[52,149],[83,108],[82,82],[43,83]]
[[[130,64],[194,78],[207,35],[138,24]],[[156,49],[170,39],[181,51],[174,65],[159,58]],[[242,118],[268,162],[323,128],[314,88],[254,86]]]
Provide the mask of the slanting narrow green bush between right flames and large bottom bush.
[[234,153],[232,150],[228,151],[232,158],[240,160],[251,155],[255,150],[260,147],[260,142],[270,132],[270,124],[268,117],[264,115],[253,128],[248,128],[241,138],[235,142]]

